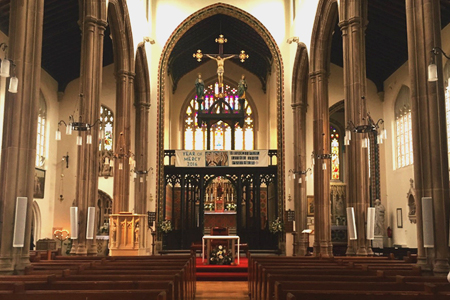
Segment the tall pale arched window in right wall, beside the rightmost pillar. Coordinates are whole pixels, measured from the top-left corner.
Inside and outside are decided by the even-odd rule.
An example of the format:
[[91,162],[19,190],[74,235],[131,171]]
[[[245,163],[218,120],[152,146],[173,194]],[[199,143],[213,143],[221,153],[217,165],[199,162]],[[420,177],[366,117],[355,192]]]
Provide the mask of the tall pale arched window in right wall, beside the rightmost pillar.
[[409,88],[403,86],[395,101],[397,168],[413,164],[411,101]]

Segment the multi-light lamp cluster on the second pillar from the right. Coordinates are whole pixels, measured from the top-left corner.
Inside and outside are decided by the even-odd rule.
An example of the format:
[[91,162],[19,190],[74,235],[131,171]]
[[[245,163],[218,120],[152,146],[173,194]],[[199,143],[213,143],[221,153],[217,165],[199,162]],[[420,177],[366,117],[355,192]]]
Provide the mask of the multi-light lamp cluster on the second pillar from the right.
[[[364,101],[364,96],[361,97]],[[345,129],[345,137],[344,137],[344,145],[348,146],[350,145],[350,140],[352,139],[352,132],[355,133],[362,133],[367,134],[364,139],[361,141],[361,146],[363,148],[367,148],[369,145],[369,133],[376,133],[377,134],[377,143],[383,144],[383,140],[387,139],[387,132],[386,129],[384,129],[384,120],[379,119],[376,123],[372,119],[369,113],[367,113],[367,117],[363,118],[363,121],[365,122],[367,120],[366,124],[361,125],[355,125],[353,121],[347,122],[347,128]],[[380,126],[383,125],[381,128]]]

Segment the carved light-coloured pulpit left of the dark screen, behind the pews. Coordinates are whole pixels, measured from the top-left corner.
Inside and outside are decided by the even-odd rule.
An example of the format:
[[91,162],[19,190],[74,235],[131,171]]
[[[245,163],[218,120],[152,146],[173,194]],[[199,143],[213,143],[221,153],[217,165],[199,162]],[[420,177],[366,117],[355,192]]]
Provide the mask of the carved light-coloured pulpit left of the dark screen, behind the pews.
[[109,255],[148,255],[146,214],[112,214],[109,224]]

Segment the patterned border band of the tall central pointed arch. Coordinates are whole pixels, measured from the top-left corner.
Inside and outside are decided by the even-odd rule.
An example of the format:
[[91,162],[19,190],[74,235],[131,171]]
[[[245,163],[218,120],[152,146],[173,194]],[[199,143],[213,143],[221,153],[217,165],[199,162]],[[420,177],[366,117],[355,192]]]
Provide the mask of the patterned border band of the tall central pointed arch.
[[168,60],[170,57],[170,54],[175,47],[178,40],[195,24],[198,22],[211,17],[216,14],[224,14],[228,15],[234,18],[239,19],[240,21],[245,22],[249,26],[251,26],[266,42],[272,57],[274,57],[274,64],[275,64],[275,75],[276,75],[276,82],[277,82],[277,148],[278,148],[278,161],[281,162],[278,166],[278,191],[279,191],[279,205],[278,215],[283,215],[284,210],[284,124],[283,124],[283,115],[284,115],[284,89],[283,89],[283,83],[284,83],[284,67],[283,67],[283,61],[281,58],[281,52],[278,48],[278,45],[276,44],[274,38],[271,36],[267,28],[264,27],[264,25],[259,22],[255,17],[250,15],[249,13],[228,5],[224,3],[216,3],[210,6],[207,6],[191,16],[189,16],[187,19],[185,19],[178,27],[177,29],[172,33],[170,38],[168,39],[166,45],[164,45],[164,48],[162,50],[160,62],[159,62],[159,69],[158,69],[158,107],[157,107],[157,116],[158,116],[158,129],[157,129],[157,160],[158,160],[158,187],[156,190],[157,193],[157,199],[158,199],[158,218],[161,219],[163,217],[163,188],[164,188],[164,106],[165,106],[165,93],[166,93],[166,82],[165,82],[165,76],[166,76],[166,70],[168,66]]

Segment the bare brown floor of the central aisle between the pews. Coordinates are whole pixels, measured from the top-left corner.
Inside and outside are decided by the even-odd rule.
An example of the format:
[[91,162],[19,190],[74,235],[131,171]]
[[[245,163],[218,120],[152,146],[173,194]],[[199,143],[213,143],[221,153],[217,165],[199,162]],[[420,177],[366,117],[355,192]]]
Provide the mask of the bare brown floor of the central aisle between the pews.
[[247,281],[197,281],[195,299],[249,299]]

